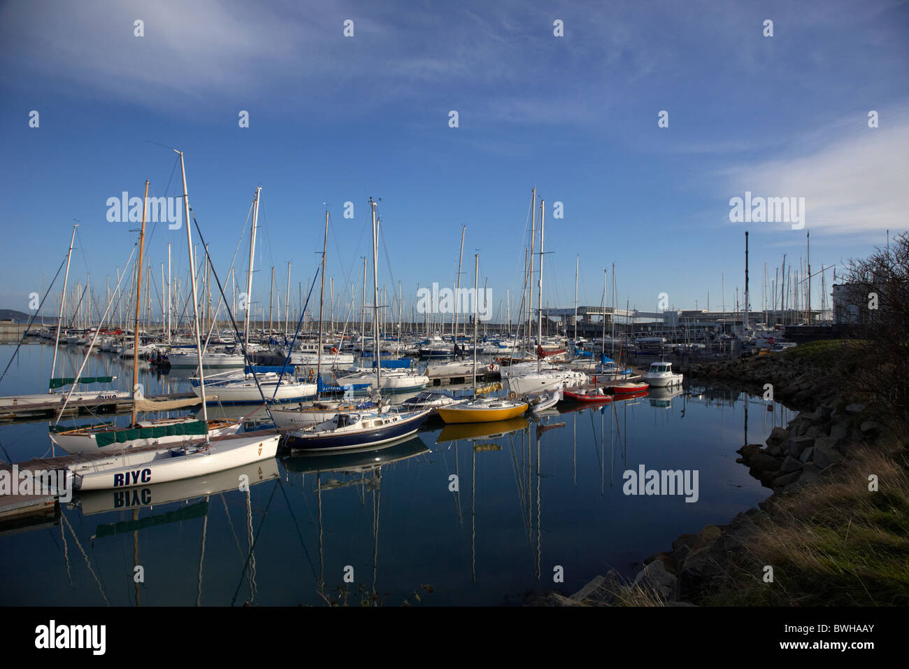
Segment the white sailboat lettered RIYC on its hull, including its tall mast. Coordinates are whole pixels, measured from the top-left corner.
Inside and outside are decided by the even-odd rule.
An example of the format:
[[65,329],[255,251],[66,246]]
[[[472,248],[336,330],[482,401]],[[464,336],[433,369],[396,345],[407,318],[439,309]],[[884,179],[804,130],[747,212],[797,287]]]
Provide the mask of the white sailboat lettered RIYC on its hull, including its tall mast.
[[[192,224],[189,213],[189,196],[186,192],[186,172],[183,153],[180,155],[180,171],[183,177],[183,202],[186,221],[186,247],[189,253],[190,277],[195,279],[195,258],[193,255]],[[147,195],[147,183],[146,183]],[[145,216],[145,215],[143,215]],[[141,263],[140,263],[141,266]],[[195,280],[190,282],[193,291],[193,324],[195,347],[201,354],[202,340],[199,333],[199,309]],[[201,359],[201,355],[200,355]],[[205,407],[205,370],[200,365],[199,377],[202,387],[203,423],[208,425]],[[105,490],[128,488],[138,484],[162,483],[203,476],[215,471],[224,471],[250,462],[275,457],[280,434],[257,434],[248,437],[222,437],[212,442],[205,432],[205,441],[193,446],[167,450],[126,451],[124,454],[104,460],[75,463],[66,467],[67,477],[72,477],[77,490]]]

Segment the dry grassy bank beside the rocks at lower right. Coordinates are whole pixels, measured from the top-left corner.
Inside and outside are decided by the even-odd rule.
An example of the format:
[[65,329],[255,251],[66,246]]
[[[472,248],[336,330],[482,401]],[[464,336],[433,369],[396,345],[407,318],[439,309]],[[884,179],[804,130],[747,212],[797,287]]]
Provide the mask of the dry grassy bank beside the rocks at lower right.
[[[869,491],[869,475],[877,492]],[[778,495],[719,605],[909,604],[909,476],[904,444],[862,447],[828,480]],[[764,583],[764,565],[774,582]]]

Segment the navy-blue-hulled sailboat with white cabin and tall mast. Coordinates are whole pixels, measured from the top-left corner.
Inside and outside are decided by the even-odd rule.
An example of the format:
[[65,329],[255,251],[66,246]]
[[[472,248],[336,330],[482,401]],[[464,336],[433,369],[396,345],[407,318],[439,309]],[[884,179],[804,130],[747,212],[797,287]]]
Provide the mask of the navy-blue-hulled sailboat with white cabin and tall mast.
[[[369,198],[373,217],[373,322],[379,322],[379,269],[378,269],[378,225],[375,220],[375,202]],[[327,228],[327,218],[326,218]],[[321,328],[320,328],[321,331]],[[375,343],[375,360],[379,358],[379,338]],[[287,434],[287,442],[293,451],[317,451],[321,449],[357,449],[386,443],[400,437],[414,434],[429,416],[429,409],[419,411],[392,411],[381,401],[382,365],[375,366],[375,389],[379,405],[375,411],[341,411],[329,420]]]

